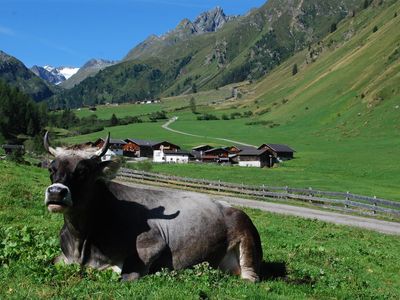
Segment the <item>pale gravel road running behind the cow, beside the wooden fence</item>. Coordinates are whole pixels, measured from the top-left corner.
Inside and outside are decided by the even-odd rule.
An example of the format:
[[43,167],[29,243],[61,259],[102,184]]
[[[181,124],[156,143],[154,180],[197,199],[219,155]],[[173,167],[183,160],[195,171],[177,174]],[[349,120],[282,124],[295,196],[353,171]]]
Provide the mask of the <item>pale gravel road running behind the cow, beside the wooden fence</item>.
[[[173,193],[189,193],[193,197],[196,197],[198,193],[196,192],[188,192],[182,191],[178,189],[166,188],[166,187],[156,187],[156,186],[149,186],[149,185],[142,185],[136,184],[132,182],[122,182],[123,184],[130,185],[140,189],[148,189],[148,190],[169,190],[171,194]],[[357,217],[351,215],[343,215],[329,211],[305,208],[305,207],[298,207],[298,206],[290,206],[285,204],[277,204],[277,203],[270,203],[264,201],[255,201],[243,198],[235,198],[235,197],[225,197],[225,196],[216,196],[210,195],[211,199],[218,200],[218,201],[225,201],[231,205],[235,206],[242,206],[248,208],[255,208],[260,209],[267,212],[283,214],[283,215],[290,215],[296,217],[302,217],[306,219],[317,219],[320,221],[334,223],[339,225],[347,225],[347,226],[354,226],[360,227],[368,230],[378,231],[385,234],[393,234],[393,235],[400,235],[400,223],[396,222],[388,222],[388,221],[381,221],[375,220],[371,218],[364,218],[364,217]]]

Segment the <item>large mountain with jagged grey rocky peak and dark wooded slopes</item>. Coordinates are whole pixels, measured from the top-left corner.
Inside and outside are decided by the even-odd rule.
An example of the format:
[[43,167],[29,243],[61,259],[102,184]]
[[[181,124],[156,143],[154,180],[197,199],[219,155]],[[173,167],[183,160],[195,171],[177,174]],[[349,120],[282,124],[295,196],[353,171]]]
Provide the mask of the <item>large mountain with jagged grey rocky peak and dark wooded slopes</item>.
[[[360,11],[362,0],[270,0],[245,16],[216,8],[182,20],[163,36],[150,36],[117,65],[59,97],[71,107],[137,101],[208,90],[259,79]],[[107,75],[107,78],[105,78]]]

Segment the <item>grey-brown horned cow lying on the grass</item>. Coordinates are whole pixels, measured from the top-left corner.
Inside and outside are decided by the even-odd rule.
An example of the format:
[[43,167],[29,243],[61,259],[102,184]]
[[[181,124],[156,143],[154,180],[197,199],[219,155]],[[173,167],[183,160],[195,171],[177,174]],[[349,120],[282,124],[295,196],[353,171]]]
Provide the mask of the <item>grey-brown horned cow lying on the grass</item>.
[[102,161],[110,142],[57,147],[44,136],[54,156],[45,205],[62,213],[62,253],[55,262],[113,269],[122,280],[136,280],[162,268],[181,270],[202,262],[259,280],[260,236],[241,210],[206,195],[127,186],[104,174],[117,170]]

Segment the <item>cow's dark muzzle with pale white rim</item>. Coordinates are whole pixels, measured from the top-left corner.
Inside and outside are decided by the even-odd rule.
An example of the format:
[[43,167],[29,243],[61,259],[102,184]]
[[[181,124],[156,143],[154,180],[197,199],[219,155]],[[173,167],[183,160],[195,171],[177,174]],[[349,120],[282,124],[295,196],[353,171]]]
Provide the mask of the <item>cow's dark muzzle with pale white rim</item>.
[[53,213],[62,213],[72,207],[71,191],[62,183],[54,183],[46,189],[44,204]]

